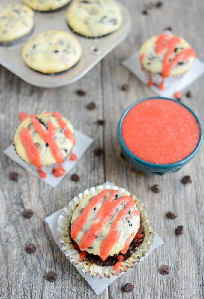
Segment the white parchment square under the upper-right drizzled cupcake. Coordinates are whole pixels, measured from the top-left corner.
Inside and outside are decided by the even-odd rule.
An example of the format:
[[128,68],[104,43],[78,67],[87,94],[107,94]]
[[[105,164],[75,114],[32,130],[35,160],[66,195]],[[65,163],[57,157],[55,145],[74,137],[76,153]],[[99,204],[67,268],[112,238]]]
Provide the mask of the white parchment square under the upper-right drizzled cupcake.
[[[170,32],[165,32],[170,34]],[[172,33],[171,33],[172,34]],[[149,77],[146,72],[141,69],[139,51],[133,53],[131,56],[122,61],[122,65],[128,68],[141,82],[147,85]],[[176,91],[182,91],[188,85],[197,80],[204,73],[204,63],[198,58],[195,58],[192,67],[176,82],[171,84],[164,90],[160,90],[157,86],[150,86],[156,94],[160,97],[173,97]]]

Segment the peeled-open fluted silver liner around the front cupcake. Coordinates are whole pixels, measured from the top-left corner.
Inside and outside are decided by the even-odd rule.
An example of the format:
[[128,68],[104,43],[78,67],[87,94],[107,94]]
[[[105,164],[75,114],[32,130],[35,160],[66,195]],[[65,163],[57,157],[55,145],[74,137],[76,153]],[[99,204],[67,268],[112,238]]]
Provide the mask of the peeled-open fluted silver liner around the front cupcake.
[[[75,211],[77,205],[82,201],[84,196],[89,194],[95,194],[97,191],[101,191],[103,189],[114,189],[119,190],[119,192],[128,192],[128,190],[117,187],[106,185],[103,187],[102,185],[92,187],[90,189],[85,190],[83,193],[79,193],[79,195],[75,196],[64,208],[64,211],[60,215],[58,219],[58,232],[60,237],[60,243],[63,245],[62,250],[65,252],[65,256],[70,260],[72,264],[75,264],[77,268],[82,269],[84,273],[89,273],[92,277],[98,276],[99,278],[107,277],[110,278],[114,275],[118,276],[122,272],[127,272],[129,268],[134,268],[134,265],[140,262],[141,257],[144,257],[146,253],[149,251],[151,244],[153,243],[154,234],[154,226],[152,224],[151,219],[149,218],[149,212],[146,211],[144,205],[135,197],[135,204],[140,211],[140,218],[142,220],[142,225],[145,230],[145,238],[143,243],[138,247],[133,254],[122,262],[122,267],[119,271],[114,271],[114,266],[98,266],[94,263],[91,263],[88,260],[80,260],[80,256],[77,250],[73,248],[73,243],[71,241],[70,236],[70,224],[72,214]],[[131,193],[129,193],[131,195]]]

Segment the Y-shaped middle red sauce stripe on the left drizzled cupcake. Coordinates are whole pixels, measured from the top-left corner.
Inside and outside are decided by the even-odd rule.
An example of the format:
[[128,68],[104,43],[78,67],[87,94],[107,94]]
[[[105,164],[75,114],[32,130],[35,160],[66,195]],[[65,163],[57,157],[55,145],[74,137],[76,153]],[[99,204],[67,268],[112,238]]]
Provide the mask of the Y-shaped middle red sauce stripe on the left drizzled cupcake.
[[52,124],[52,121],[47,122],[47,132],[44,130],[42,124],[38,121],[35,116],[31,118],[32,124],[38,134],[42,139],[49,145],[50,151],[52,152],[53,157],[57,161],[57,163],[63,162],[63,155],[61,150],[59,149],[54,136],[55,136],[55,127]]

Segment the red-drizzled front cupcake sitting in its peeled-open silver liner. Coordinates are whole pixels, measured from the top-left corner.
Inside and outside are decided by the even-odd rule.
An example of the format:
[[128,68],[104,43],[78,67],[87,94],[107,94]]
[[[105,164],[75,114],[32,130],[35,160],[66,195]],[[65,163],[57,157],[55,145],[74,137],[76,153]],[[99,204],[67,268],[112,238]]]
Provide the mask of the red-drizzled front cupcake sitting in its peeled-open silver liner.
[[58,232],[70,262],[99,278],[133,268],[154,238],[149,213],[137,197],[110,185],[75,196],[59,217]]

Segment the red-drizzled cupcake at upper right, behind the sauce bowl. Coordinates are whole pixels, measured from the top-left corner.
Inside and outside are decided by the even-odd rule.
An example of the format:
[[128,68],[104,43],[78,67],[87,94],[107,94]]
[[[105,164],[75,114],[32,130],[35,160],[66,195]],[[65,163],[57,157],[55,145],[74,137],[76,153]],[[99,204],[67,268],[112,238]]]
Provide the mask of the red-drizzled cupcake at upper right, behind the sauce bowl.
[[149,38],[140,48],[142,70],[149,76],[148,86],[164,89],[193,65],[196,52],[181,37],[160,34]]

